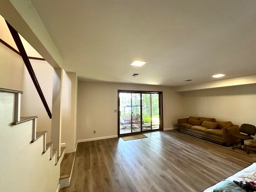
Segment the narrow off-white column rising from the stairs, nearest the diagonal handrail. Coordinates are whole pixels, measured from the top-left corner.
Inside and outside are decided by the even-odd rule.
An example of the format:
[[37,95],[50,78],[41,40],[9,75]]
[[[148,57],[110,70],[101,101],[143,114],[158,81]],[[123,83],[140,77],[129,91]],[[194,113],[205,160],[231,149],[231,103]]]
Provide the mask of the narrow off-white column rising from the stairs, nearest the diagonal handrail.
[[52,84],[52,133],[53,149],[60,156],[61,119],[62,119],[62,74],[63,70],[54,68]]

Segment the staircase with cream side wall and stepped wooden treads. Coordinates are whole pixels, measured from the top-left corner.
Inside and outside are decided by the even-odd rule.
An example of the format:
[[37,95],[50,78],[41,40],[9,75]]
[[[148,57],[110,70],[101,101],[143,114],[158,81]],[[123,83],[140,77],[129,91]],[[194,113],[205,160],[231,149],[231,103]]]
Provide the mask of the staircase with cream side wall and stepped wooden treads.
[[20,117],[21,91],[0,88],[1,191],[58,192],[64,157],[36,130],[37,116]]

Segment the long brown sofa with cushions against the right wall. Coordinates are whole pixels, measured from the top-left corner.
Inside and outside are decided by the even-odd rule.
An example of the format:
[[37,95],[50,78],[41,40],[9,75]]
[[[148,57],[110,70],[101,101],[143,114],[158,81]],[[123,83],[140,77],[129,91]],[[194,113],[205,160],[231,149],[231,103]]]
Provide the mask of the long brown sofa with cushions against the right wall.
[[240,133],[239,126],[233,125],[231,121],[216,121],[215,118],[190,116],[189,118],[178,119],[178,129],[180,132],[224,146],[239,142],[237,138],[230,136],[232,133]]

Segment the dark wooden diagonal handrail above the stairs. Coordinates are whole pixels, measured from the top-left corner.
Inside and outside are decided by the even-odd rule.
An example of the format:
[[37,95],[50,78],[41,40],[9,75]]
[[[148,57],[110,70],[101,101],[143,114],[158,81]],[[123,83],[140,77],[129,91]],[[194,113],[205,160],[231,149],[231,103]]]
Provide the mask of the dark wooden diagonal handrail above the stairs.
[[31,79],[32,79],[32,81],[33,81],[33,83],[34,83],[34,85],[36,87],[36,90],[37,90],[37,92],[38,92],[38,94],[39,94],[39,96],[40,96],[40,98],[41,98],[41,100],[43,102],[44,108],[46,109],[46,112],[47,112],[49,118],[51,119],[52,118],[52,113],[51,113],[51,111],[50,111],[50,109],[48,107],[48,104],[47,104],[47,102],[46,102],[46,100],[44,98],[44,94],[43,94],[43,92],[42,92],[42,90],[40,88],[40,85],[38,83],[38,80],[36,78],[34,70],[33,70],[32,66],[31,66],[31,63],[30,63],[29,59],[28,59],[28,55],[26,54],[24,46],[23,46],[23,44],[22,44],[22,42],[20,40],[20,36],[19,36],[18,32],[7,21],[5,21],[5,22],[6,22],[8,28],[9,28],[11,34],[12,34],[12,38],[14,39],[14,42],[15,42],[15,44],[16,44],[19,52],[20,52],[20,55],[21,55],[25,65],[26,65],[26,68],[28,69],[28,73],[30,74],[30,77],[31,77]]

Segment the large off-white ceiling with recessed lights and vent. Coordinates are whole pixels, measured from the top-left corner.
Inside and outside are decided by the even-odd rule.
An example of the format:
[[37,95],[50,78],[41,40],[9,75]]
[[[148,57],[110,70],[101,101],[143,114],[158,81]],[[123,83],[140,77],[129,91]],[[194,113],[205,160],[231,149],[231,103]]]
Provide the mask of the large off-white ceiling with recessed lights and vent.
[[80,80],[180,86],[256,74],[256,0],[31,2]]

